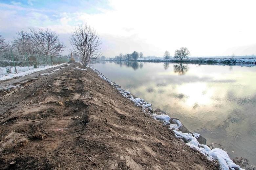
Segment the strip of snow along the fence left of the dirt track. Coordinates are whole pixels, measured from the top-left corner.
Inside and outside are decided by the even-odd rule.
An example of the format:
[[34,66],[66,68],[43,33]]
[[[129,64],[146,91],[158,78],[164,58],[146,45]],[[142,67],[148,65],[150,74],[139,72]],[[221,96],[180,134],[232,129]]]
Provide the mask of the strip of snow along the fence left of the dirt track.
[[[7,80],[7,79],[10,79],[10,78],[14,78],[14,77],[26,76],[26,75],[29,75],[29,74],[32,74],[32,73],[35,73],[35,72],[38,72],[38,71],[46,70],[46,69],[53,68],[53,67],[58,67],[58,66],[63,65],[63,64],[66,64],[66,63],[53,65],[53,66],[42,67],[42,68],[35,68],[35,69],[32,69],[32,70],[27,70],[27,71],[23,71],[23,72],[18,72],[18,69],[19,68],[24,69],[23,67],[16,67],[17,72],[18,72],[17,74],[15,74],[15,72],[12,71],[11,74],[1,75],[0,80]],[[1,68],[3,68],[3,67],[1,67]],[[19,70],[22,70],[22,69],[19,69]]]

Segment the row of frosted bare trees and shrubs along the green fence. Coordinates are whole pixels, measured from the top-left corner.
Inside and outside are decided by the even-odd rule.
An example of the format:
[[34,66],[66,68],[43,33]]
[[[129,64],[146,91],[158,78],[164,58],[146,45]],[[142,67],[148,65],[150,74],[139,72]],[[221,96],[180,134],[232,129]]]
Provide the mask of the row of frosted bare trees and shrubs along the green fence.
[[53,65],[68,61],[62,56],[65,45],[58,35],[50,29],[23,29],[16,33],[11,42],[6,42],[0,35],[0,66],[28,66],[35,68],[39,64]]

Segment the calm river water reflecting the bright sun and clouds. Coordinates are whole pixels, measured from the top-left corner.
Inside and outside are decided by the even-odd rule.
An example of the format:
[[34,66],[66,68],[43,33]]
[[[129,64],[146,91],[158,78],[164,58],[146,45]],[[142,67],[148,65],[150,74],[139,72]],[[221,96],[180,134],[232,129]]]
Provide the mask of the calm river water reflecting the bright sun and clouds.
[[256,66],[101,62],[93,67],[135,96],[256,164]]

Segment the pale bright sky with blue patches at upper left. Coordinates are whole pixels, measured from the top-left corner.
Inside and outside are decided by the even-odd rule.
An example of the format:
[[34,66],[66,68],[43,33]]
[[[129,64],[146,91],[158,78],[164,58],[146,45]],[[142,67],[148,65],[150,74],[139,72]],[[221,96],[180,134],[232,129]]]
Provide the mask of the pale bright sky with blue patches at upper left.
[[21,29],[49,28],[69,54],[75,26],[88,24],[106,57],[173,56],[180,47],[194,57],[256,55],[255,10],[255,0],[0,1],[0,34],[11,41]]

